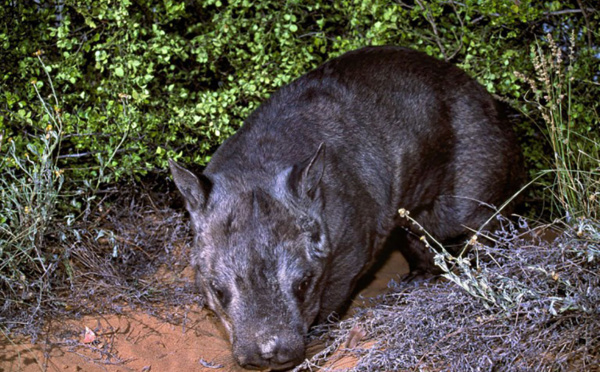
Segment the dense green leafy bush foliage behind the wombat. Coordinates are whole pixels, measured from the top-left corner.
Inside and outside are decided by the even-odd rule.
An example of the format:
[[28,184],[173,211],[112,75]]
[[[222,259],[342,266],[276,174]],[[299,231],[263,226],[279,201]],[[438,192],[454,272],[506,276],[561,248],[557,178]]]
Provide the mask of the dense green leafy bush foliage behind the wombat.
[[[369,44],[407,45],[457,63],[541,122],[513,71],[532,71],[528,45],[539,35],[551,31],[562,46],[576,30],[574,129],[593,137],[597,125],[593,1],[2,3],[0,131],[20,139],[17,151],[43,132],[31,119],[35,94],[27,87],[45,73],[32,53],[45,51],[60,109],[73,116],[59,154],[69,182],[98,176],[102,161],[103,182],[160,172],[168,157],[205,164],[277,87]],[[539,129],[528,122],[521,132],[531,165],[547,167]]]

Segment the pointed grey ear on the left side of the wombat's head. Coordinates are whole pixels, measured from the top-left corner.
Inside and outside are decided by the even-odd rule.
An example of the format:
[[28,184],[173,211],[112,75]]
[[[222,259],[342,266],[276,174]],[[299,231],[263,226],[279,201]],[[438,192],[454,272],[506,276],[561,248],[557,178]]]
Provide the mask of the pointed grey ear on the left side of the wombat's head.
[[169,168],[171,168],[175,185],[185,199],[188,211],[191,213],[198,209],[204,209],[212,182],[206,176],[197,177],[171,159],[169,159]]

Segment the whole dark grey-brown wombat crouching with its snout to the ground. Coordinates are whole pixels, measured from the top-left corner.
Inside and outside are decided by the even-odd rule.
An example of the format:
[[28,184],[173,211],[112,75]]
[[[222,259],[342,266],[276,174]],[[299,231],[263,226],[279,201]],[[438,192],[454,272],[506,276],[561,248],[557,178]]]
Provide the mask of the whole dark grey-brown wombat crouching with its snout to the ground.
[[[202,174],[170,167],[197,284],[234,358],[282,370],[304,359],[309,327],[343,309],[405,223],[399,208],[438,241],[464,242],[516,191],[520,163],[475,80],[411,49],[367,47],[275,92]],[[407,235],[412,272],[433,272]]]

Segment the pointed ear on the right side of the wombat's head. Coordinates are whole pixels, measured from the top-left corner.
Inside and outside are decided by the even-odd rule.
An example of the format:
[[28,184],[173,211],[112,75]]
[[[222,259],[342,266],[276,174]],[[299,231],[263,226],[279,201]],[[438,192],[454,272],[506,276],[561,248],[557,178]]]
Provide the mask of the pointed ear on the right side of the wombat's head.
[[321,142],[319,148],[308,161],[296,164],[289,178],[289,185],[300,196],[315,199],[319,182],[325,172],[325,143]]

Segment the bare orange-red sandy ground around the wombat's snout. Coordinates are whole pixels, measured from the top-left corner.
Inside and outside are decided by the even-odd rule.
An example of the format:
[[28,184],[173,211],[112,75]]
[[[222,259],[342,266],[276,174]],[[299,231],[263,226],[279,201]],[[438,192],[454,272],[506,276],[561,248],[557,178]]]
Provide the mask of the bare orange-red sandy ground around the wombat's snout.
[[[372,281],[356,296],[384,293],[387,283],[406,273],[402,255],[393,252]],[[172,309],[171,309],[172,310]],[[0,335],[0,372],[8,371],[240,371],[229,341],[209,311],[192,306],[175,309],[183,318],[173,325],[144,312],[56,320],[45,339],[8,340]],[[349,310],[350,312],[352,309]],[[88,331],[86,338],[86,327]],[[334,369],[348,368],[352,358],[336,358]]]

